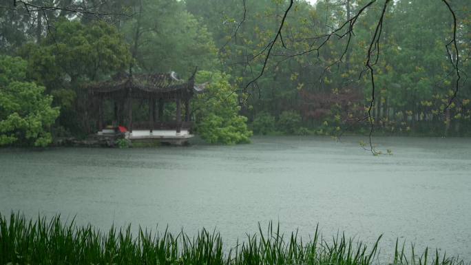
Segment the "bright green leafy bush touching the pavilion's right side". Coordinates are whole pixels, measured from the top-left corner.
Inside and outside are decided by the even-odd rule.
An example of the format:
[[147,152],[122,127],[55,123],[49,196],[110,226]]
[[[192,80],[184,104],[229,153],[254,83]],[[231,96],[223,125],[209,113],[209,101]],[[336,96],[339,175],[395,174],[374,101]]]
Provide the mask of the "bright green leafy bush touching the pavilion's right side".
[[201,138],[224,145],[250,142],[252,131],[247,127],[247,117],[238,114],[238,95],[233,93],[229,76],[202,71],[197,79],[198,83],[208,82],[205,93],[198,94],[193,103],[196,132]]

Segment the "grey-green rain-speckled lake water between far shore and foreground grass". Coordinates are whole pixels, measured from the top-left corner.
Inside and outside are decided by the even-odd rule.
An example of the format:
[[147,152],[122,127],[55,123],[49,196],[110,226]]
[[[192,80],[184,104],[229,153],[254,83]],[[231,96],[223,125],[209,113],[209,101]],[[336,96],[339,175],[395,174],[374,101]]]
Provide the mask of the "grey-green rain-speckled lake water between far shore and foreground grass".
[[396,238],[471,260],[471,139],[260,137],[251,145],[157,149],[0,149],[0,212],[76,215],[107,229],[216,229],[224,244],[282,231]]

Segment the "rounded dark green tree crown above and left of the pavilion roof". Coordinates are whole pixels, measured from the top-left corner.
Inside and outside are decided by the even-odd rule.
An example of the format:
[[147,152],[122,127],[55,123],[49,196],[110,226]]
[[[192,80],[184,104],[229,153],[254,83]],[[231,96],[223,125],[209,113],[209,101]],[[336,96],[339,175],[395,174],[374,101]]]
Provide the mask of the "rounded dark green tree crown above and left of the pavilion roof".
[[81,80],[94,81],[124,70],[131,60],[123,35],[105,21],[84,25],[60,19],[39,47],[28,45],[23,53],[30,59],[29,73],[45,85],[52,81],[69,81],[72,85]]

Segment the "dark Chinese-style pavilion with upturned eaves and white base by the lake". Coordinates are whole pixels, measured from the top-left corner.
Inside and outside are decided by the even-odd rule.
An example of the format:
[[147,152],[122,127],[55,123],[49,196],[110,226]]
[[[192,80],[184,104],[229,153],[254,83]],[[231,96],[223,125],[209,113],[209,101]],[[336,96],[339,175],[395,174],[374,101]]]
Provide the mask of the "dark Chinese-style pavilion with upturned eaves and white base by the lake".
[[[109,81],[94,83],[89,92],[98,105],[98,135],[114,133],[113,129],[104,129],[105,100],[114,103],[114,128],[127,127],[126,137],[130,140],[159,140],[181,144],[193,137],[191,134],[190,100],[193,94],[202,92],[204,85],[195,85],[196,70],[188,80],[178,79],[175,72],[168,74],[117,74]],[[133,120],[133,100],[140,100],[149,105],[147,121]],[[163,112],[165,103],[176,103],[175,119],[165,123]],[[156,112],[156,105],[158,112]],[[182,105],[185,118],[182,120]],[[127,118],[125,118],[127,113]]]

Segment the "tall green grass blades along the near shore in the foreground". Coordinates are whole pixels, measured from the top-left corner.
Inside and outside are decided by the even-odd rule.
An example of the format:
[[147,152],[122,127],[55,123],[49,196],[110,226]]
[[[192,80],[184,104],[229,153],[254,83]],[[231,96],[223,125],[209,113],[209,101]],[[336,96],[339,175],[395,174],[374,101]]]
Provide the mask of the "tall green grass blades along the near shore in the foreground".
[[[224,251],[222,238],[216,231],[202,229],[196,237],[180,232],[172,235],[167,230],[154,233],[139,228],[133,236],[131,226],[107,233],[90,224],[77,226],[74,221],[64,223],[60,216],[49,221],[44,217],[28,220],[12,213],[10,218],[0,215],[0,265],[3,264],[377,264],[378,242],[366,246],[353,242],[344,235],[324,240],[315,230],[308,242],[297,232],[285,237],[280,227],[269,224],[266,232],[259,225],[257,235]],[[465,265],[463,260],[430,254],[412,253],[406,257],[405,246],[398,242],[394,264],[404,265]]]

